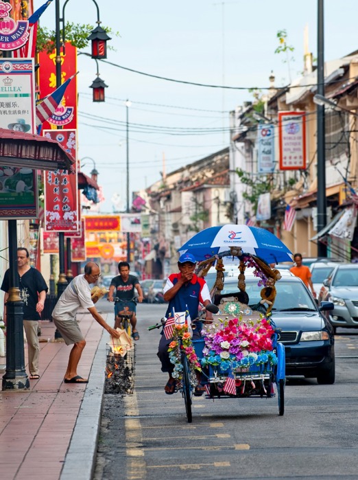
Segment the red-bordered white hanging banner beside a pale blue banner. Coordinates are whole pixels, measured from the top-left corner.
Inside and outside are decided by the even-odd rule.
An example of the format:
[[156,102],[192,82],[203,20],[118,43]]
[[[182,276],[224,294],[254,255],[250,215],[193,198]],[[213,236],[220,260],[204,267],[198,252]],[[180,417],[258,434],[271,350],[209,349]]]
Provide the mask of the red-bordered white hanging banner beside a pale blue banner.
[[306,168],[305,112],[278,112],[280,170]]

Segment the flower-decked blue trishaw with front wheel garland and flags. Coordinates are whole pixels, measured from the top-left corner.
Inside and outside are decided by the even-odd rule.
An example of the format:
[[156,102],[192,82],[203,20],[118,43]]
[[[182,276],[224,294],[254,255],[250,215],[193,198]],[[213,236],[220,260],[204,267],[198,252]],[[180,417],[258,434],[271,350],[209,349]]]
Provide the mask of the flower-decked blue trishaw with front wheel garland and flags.
[[[236,229],[242,227],[246,226],[235,225]],[[266,239],[267,233],[272,235],[265,231]],[[195,253],[192,240],[191,248],[187,251]],[[202,239],[199,239],[198,243],[202,245]],[[182,247],[180,253],[183,253],[183,250]],[[285,247],[285,254],[283,252],[281,255],[274,254],[272,259],[267,253],[263,255],[261,251],[262,256],[269,261],[276,260],[275,263],[291,261],[290,254],[291,252]],[[202,253],[200,255],[202,256]],[[198,254],[199,260],[200,255]],[[221,295],[224,288],[225,258],[237,258],[239,269],[238,291],[229,296]],[[279,330],[272,321],[270,313],[276,297],[274,284],[281,275],[259,256],[243,253],[237,244],[226,251],[221,249],[214,255],[206,255],[205,260],[198,264],[197,275],[205,277],[213,265],[215,265],[217,277],[211,288],[211,295],[217,306],[213,304],[206,307],[211,312],[216,308],[213,321],[206,323],[203,319],[196,319],[191,324],[176,323],[172,341],[169,344],[169,358],[174,364],[172,376],[176,379],[177,389],[184,398],[187,420],[189,423],[192,422],[191,399],[192,395],[195,395],[198,378],[201,385],[205,387],[206,398],[274,398],[276,396],[278,414],[283,415],[285,411],[285,347],[278,341]],[[248,266],[254,269],[254,275],[263,286],[261,301],[256,306],[250,306],[250,300],[245,291],[245,270]],[[219,308],[218,312],[217,308]],[[164,325],[165,320],[153,325],[149,330]],[[197,339],[195,334],[191,338],[189,332],[191,329],[195,332],[195,325],[202,327],[201,335],[196,335]],[[198,374],[198,372],[201,373]]]

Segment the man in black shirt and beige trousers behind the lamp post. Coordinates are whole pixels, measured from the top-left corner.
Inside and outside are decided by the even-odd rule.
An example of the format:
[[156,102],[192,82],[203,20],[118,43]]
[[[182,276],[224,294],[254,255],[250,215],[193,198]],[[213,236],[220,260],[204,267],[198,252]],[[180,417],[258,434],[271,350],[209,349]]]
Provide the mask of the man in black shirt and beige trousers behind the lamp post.
[[[36,269],[29,266],[29,251],[24,247],[17,249],[17,271],[19,273],[20,297],[23,301],[23,326],[27,339],[27,358],[30,380],[40,378],[39,356],[40,345],[38,343],[38,321],[40,313],[45,305],[46,294],[49,288],[43,275]],[[7,312],[6,302],[8,301],[10,288],[10,269],[5,271],[1,290],[5,292],[3,319],[6,324]]]

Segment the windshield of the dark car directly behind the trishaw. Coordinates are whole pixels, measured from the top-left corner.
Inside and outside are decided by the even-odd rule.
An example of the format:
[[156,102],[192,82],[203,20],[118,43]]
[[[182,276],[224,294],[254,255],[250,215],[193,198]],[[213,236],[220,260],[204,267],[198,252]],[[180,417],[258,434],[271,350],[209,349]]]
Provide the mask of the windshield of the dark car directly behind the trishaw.
[[[226,279],[224,284],[224,290],[222,295],[227,293],[235,293],[239,291],[237,287],[237,279]],[[249,296],[249,305],[254,306],[259,304],[261,300],[261,289],[257,285],[258,280],[254,278],[246,278],[246,293]],[[288,282],[285,279],[281,279],[275,284],[276,287],[276,299],[272,311],[317,311],[315,303],[305,285],[302,282]]]

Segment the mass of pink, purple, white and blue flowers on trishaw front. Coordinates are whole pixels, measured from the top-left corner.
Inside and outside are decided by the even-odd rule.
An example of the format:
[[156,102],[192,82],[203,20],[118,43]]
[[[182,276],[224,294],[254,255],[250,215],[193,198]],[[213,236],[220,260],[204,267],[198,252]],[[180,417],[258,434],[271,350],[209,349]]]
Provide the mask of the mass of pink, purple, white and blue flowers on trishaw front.
[[251,365],[276,365],[273,336],[274,328],[264,317],[255,321],[243,321],[242,317],[221,320],[219,325],[212,325],[206,331],[202,366],[213,365],[228,372]]

